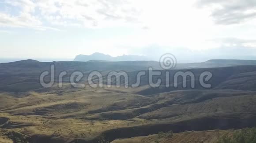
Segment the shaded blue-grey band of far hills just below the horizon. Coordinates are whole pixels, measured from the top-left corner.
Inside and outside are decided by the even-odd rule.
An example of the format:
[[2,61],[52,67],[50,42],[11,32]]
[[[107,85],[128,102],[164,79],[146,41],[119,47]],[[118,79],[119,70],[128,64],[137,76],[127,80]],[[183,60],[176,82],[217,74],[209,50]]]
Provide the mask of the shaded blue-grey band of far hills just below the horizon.
[[[129,81],[135,81],[136,73],[138,71],[146,71],[149,67],[154,70],[162,70],[158,61],[102,61],[90,60],[83,61],[53,61],[40,62],[36,60],[23,60],[10,63],[0,64],[0,92],[1,91],[15,91],[27,92],[30,90],[41,89],[39,76],[42,71],[49,71],[51,64],[55,65],[56,74],[55,79],[60,72],[66,71],[68,74],[64,77],[63,82],[70,82],[69,77],[75,71],[85,73],[81,82],[86,82],[88,74],[91,71],[101,71],[103,75],[109,71],[125,71],[128,73]],[[226,67],[226,68],[225,68]],[[232,68],[233,67],[233,68]],[[237,68],[236,68],[237,67]],[[240,68],[239,68],[240,67]],[[218,82],[213,81],[213,85],[217,88],[221,85],[222,89],[242,89],[242,90],[256,90],[256,61],[253,60],[209,60],[201,63],[187,63],[177,64],[172,70],[188,70],[193,73],[200,73],[202,71],[211,71]],[[198,72],[200,71],[200,72]],[[247,74],[243,74],[248,72]],[[170,73],[175,73],[170,72]],[[232,74],[240,74],[230,77]],[[162,74],[164,75],[164,74]],[[222,76],[223,75],[223,76]],[[229,77],[229,79],[227,79]],[[238,80],[239,78],[239,80]],[[147,85],[148,78],[144,77],[141,85]],[[49,77],[45,79],[48,81]],[[225,82],[224,82],[225,80]],[[249,81],[249,82],[248,82]],[[96,83],[97,81],[95,81]],[[216,83],[215,83],[216,82]],[[232,83],[235,84],[232,84]],[[132,82],[133,83],[133,82]],[[239,86],[239,84],[244,86]],[[246,85],[247,84],[247,85]],[[172,89],[172,88],[171,88]],[[169,91],[163,88],[154,90],[149,88],[143,90],[140,94],[158,93],[162,91]],[[177,89],[175,89],[177,90]]]

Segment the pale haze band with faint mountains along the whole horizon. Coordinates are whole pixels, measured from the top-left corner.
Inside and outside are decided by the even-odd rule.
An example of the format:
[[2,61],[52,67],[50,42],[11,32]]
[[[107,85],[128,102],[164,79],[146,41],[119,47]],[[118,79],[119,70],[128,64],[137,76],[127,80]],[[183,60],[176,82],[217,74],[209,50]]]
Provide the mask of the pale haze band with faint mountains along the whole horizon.
[[[159,61],[159,58],[166,53],[171,53],[177,58],[177,63],[194,63],[194,62],[203,62],[207,61],[209,59],[240,59],[240,60],[255,60],[256,56],[253,55],[226,55],[227,53],[232,53],[232,51],[191,51],[191,50],[175,50],[175,51],[162,51],[158,52],[157,50],[148,50],[145,52],[145,55],[136,55],[136,54],[123,54],[121,56],[113,57],[108,54],[103,53],[93,53],[90,55],[85,54],[79,54],[74,57],[68,57],[68,58],[55,58],[55,57],[44,57],[44,58],[0,58],[0,63],[8,63],[8,62],[14,62],[14,61],[21,61],[26,59],[34,59],[37,61],[91,61],[91,60],[100,60],[100,61]],[[226,54],[224,54],[226,53]],[[250,53],[250,52],[249,52]],[[251,52],[252,53],[252,52]],[[219,55],[218,55],[219,54]]]

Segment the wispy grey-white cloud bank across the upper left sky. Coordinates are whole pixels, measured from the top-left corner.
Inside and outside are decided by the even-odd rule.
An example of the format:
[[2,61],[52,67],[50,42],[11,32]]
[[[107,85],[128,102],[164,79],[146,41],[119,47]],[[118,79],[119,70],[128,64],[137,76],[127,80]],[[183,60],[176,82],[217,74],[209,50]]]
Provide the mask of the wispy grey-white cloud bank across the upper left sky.
[[[139,15],[133,3],[126,0],[4,0],[3,4],[10,10],[0,12],[1,25],[11,27],[45,24],[105,27],[137,22]],[[17,10],[19,15],[11,14]],[[21,18],[24,15],[26,18]]]

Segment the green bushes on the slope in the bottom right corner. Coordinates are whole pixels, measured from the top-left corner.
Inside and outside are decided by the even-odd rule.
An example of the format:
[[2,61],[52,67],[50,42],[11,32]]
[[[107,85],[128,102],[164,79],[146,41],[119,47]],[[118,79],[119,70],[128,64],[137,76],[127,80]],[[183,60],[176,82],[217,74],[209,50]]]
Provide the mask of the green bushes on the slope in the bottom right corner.
[[222,136],[218,143],[256,143],[256,128],[235,131],[233,136]]

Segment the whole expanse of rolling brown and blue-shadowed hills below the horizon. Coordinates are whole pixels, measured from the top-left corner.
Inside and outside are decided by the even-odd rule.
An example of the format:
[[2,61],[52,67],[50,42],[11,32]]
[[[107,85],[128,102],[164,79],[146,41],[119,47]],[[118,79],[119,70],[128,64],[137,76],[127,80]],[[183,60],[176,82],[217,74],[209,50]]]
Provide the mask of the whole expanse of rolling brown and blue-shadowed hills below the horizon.
[[[126,70],[131,82],[136,81],[137,70],[146,70],[149,65],[159,68],[154,61],[26,60],[0,64],[0,141],[215,143],[216,135],[212,130],[256,126],[256,88],[252,84],[256,80],[255,65],[169,71],[171,76],[177,71],[190,71],[196,77],[203,71],[210,71],[213,74],[208,81],[212,84],[210,89],[200,86],[194,89],[181,86],[177,89],[163,88],[163,76],[155,77],[162,78],[163,85],[151,88],[148,75],[136,88],[109,88],[106,85],[91,88],[87,82],[84,88],[75,88],[70,85],[68,76],[62,88],[56,83],[52,87],[42,88],[38,85],[38,75],[49,70],[53,63],[56,73],[66,70],[68,76],[77,70],[85,75],[91,70],[99,70],[105,75],[111,70]],[[181,79],[178,81],[182,82]],[[98,80],[94,79],[94,82]],[[155,135],[170,130],[174,132],[171,141]],[[220,132],[226,134],[229,131]]]

